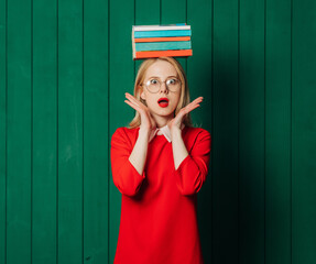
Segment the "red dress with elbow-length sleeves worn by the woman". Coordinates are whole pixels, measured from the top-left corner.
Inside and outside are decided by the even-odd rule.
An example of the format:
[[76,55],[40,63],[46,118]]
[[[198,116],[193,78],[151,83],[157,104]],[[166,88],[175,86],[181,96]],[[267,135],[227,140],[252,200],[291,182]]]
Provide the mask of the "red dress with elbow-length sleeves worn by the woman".
[[188,155],[175,170],[172,142],[155,135],[142,175],[129,156],[139,128],[118,128],[111,138],[113,183],[122,194],[115,264],[201,264],[197,193],[210,157],[210,133],[185,127]]

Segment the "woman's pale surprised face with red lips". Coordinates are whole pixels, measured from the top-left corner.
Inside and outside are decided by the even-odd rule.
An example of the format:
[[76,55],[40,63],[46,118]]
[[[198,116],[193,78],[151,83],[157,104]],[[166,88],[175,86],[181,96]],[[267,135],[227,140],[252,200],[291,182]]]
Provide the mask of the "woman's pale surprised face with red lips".
[[[151,94],[143,86],[141,98],[146,101],[148,108],[153,116],[173,118],[174,110],[181,97],[181,88],[177,91],[170,91],[163,81],[168,77],[178,78],[177,73],[171,63],[159,59],[148,68],[144,84],[153,77],[161,81],[161,89],[156,94]],[[167,98],[168,105],[160,105],[160,98]]]

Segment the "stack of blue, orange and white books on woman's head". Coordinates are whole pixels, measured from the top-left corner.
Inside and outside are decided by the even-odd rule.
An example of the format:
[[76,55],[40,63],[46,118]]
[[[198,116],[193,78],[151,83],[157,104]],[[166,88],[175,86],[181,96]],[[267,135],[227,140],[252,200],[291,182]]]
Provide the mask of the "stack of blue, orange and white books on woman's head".
[[133,61],[150,57],[192,56],[190,25],[133,25]]

